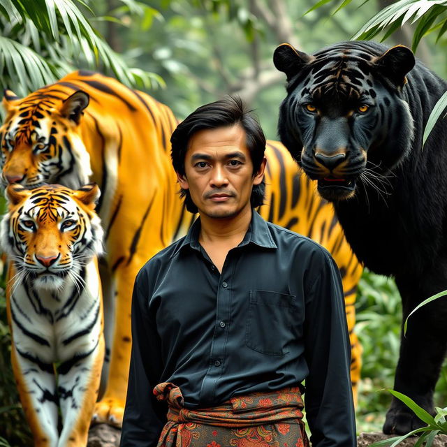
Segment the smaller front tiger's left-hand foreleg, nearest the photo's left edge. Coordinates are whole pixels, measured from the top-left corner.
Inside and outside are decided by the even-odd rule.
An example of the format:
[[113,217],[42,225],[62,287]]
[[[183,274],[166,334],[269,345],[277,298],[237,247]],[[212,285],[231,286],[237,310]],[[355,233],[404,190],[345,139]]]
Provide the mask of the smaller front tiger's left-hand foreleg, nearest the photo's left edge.
[[11,363],[23,411],[35,447],[57,447],[57,395],[52,364],[43,363],[13,345]]

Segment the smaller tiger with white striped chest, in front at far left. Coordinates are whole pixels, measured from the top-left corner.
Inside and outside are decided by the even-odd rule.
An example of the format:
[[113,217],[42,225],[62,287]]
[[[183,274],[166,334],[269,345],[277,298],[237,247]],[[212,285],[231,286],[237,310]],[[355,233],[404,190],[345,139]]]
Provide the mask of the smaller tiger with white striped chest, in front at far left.
[[87,445],[104,358],[98,193],[94,184],[6,189],[11,360],[36,447]]

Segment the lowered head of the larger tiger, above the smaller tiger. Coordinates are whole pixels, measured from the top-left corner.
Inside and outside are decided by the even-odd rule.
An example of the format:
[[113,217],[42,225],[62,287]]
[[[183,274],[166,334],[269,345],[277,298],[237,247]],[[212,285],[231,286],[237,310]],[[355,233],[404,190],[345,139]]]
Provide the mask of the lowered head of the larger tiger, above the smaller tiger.
[[89,154],[78,130],[88,103],[83,91],[61,99],[37,90],[20,99],[6,90],[6,120],[0,127],[3,186],[60,183],[75,189],[89,182]]

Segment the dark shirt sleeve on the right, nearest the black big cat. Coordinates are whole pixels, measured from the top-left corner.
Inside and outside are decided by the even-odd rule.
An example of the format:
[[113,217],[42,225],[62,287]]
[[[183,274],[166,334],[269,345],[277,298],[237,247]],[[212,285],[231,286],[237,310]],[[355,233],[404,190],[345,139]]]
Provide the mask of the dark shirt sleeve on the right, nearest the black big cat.
[[305,356],[309,375],[305,411],[313,447],[355,447],[351,347],[342,282],[335,261],[322,254],[319,274],[312,278],[306,295]]

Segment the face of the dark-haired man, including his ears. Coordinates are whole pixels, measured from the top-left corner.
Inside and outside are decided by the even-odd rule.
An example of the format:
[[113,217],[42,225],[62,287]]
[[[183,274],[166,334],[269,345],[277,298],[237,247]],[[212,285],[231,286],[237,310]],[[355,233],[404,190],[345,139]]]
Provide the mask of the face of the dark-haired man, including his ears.
[[234,217],[251,206],[251,189],[262,182],[265,159],[254,175],[245,140],[238,124],[198,131],[189,140],[185,175],[177,177],[180,186],[189,189],[200,214],[214,219]]

